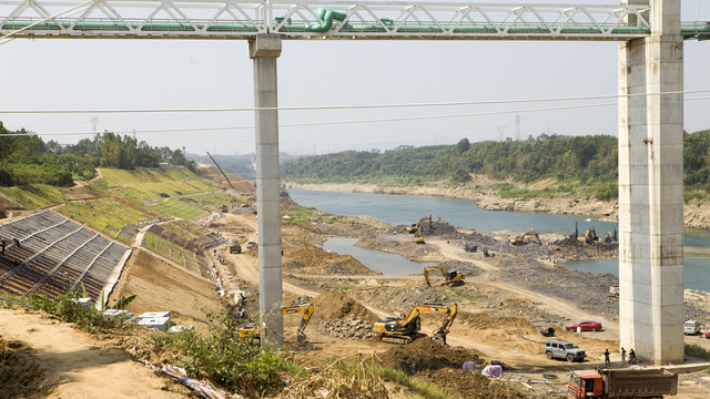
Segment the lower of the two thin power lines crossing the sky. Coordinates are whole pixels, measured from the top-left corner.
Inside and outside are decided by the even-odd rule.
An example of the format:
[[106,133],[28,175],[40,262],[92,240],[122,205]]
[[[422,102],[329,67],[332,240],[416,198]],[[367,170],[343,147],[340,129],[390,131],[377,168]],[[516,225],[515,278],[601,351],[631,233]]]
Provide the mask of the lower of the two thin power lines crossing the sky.
[[[686,99],[684,101],[696,100],[710,100],[710,96]],[[321,121],[321,122],[301,122],[301,123],[284,123],[280,124],[280,127],[301,127],[301,126],[320,126],[320,125],[335,125],[335,124],[355,124],[355,123],[378,123],[378,122],[404,122],[404,121],[422,121],[422,120],[437,120],[448,117],[466,117],[466,116],[487,116],[487,115],[500,115],[510,113],[531,113],[531,112],[546,112],[546,111],[566,111],[584,108],[599,108],[618,105],[616,102],[598,103],[598,104],[584,104],[584,105],[567,105],[567,106],[552,106],[552,108],[539,108],[539,109],[523,109],[523,110],[507,110],[507,111],[488,111],[488,112],[471,112],[459,114],[444,114],[444,115],[420,115],[420,116],[399,116],[399,117],[379,117],[379,119],[365,119],[365,120],[348,120],[348,121]],[[132,134],[135,133],[171,133],[171,132],[199,132],[199,131],[226,131],[226,130],[251,130],[254,125],[237,125],[237,126],[211,126],[211,127],[168,127],[168,129],[149,129],[149,130],[129,130],[129,131],[113,131],[108,133],[113,134]],[[20,133],[20,134],[0,134],[3,136],[29,136],[29,135],[93,135],[89,132],[62,132],[62,133]]]

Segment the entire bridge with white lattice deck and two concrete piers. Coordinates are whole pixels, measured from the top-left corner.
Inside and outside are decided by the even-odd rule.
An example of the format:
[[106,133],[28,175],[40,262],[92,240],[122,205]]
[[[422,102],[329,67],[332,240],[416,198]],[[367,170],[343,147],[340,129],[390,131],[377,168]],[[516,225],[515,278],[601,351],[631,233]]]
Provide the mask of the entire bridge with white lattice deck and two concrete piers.
[[601,6],[403,1],[3,0],[0,43],[30,39],[248,40],[254,62],[262,321],[281,344],[276,60],[284,40],[619,42],[620,345],[683,359],[683,40],[680,0]]

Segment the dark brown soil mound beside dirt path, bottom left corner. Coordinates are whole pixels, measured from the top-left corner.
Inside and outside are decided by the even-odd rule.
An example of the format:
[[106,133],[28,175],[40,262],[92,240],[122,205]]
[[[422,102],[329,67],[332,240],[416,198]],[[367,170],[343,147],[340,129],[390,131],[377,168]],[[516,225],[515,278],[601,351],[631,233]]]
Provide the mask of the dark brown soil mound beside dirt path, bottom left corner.
[[45,369],[32,348],[0,336],[0,398],[42,397],[50,387],[44,382]]

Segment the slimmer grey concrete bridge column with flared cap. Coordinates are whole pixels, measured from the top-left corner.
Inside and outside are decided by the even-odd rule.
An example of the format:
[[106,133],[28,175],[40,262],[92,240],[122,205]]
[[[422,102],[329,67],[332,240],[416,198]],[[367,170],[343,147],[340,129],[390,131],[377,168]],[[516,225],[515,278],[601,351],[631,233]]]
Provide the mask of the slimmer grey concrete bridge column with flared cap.
[[[281,37],[257,34],[248,42],[254,60],[254,106],[277,108],[276,59]],[[262,345],[283,345],[284,320],[281,313],[281,216],[278,209],[278,112],[256,111],[256,206],[258,211],[258,317]],[[265,330],[264,330],[265,328]]]

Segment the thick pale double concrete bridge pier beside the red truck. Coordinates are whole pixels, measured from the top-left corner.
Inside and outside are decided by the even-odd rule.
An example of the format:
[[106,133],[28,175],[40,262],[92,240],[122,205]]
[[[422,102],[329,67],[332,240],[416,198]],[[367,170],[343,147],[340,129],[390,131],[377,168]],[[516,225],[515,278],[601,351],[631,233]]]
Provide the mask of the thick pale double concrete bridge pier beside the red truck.
[[680,0],[651,1],[651,35],[619,49],[619,329],[666,365],[683,361],[683,96],[656,93],[683,90],[683,42]]

